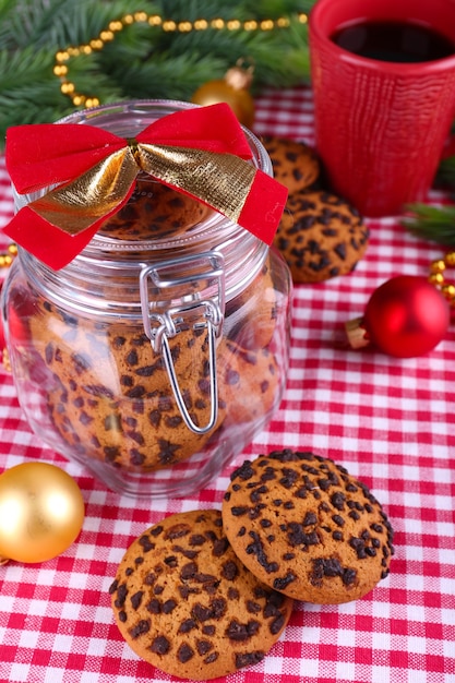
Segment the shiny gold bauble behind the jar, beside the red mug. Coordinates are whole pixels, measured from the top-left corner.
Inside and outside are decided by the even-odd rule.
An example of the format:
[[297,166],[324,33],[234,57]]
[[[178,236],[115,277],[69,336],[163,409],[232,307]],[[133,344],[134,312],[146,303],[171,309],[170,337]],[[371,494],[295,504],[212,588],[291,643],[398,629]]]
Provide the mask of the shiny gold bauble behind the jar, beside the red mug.
[[254,68],[244,68],[243,60],[228,69],[223,79],[208,81],[201,85],[193,94],[191,101],[207,107],[218,103],[226,103],[234,113],[247,128],[254,123],[254,99],[249,92],[253,82]]

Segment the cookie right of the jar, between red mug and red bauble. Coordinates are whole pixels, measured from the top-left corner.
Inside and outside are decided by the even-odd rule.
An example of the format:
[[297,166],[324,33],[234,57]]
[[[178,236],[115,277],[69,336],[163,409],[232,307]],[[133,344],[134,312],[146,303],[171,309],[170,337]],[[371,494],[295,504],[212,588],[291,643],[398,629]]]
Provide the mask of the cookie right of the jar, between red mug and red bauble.
[[274,239],[295,283],[350,273],[363,256],[369,229],[358,211],[326,191],[289,195]]

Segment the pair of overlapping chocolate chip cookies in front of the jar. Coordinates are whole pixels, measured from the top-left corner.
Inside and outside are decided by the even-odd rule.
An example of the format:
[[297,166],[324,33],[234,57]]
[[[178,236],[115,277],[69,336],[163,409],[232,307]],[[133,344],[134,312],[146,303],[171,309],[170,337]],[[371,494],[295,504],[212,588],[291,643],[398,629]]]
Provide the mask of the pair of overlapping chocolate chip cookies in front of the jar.
[[260,662],[295,600],[337,604],[388,574],[393,530],[333,460],[277,451],[231,475],[221,511],[166,517],[127,550],[110,587],[118,627],[143,659],[193,681]]

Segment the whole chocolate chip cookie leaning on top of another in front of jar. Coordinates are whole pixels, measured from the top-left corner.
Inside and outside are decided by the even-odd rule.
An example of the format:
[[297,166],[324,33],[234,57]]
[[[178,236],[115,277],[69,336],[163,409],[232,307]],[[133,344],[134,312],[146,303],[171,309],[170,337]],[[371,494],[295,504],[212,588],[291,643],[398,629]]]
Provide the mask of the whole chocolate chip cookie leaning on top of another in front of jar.
[[223,524],[246,566],[298,600],[356,600],[388,573],[393,530],[381,504],[344,467],[312,453],[246,460],[231,475]]

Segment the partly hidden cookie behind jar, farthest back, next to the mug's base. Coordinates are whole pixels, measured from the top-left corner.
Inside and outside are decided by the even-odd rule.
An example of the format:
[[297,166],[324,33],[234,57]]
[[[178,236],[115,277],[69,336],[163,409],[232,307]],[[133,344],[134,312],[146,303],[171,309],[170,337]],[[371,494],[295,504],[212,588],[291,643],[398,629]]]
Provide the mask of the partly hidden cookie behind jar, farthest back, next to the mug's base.
[[261,142],[271,157],[275,179],[289,193],[309,188],[319,178],[319,157],[304,142],[276,135],[262,135]]

